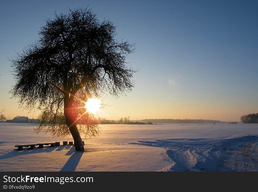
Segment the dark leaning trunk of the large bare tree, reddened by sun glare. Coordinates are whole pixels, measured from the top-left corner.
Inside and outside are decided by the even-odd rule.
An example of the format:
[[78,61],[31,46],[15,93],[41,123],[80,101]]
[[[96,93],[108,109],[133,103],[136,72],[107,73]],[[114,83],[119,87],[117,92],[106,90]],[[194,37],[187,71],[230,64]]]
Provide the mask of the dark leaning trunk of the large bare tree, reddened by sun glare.
[[82,138],[79,134],[79,131],[77,129],[76,122],[75,122],[77,117],[72,113],[72,103],[71,102],[65,102],[65,111],[64,112],[65,112],[66,124],[69,127],[69,130],[74,139],[75,151],[84,151],[84,145],[82,143]]

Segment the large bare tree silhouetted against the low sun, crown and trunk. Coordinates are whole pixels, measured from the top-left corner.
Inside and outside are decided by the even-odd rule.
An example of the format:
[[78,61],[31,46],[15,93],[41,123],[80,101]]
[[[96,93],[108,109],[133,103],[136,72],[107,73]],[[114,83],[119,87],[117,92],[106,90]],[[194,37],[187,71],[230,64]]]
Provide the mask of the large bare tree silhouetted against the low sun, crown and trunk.
[[55,14],[39,35],[37,42],[12,57],[16,82],[10,92],[26,109],[42,110],[36,132],[71,133],[76,151],[83,151],[80,133],[98,134],[85,102],[103,92],[118,96],[131,91],[136,70],[126,66],[125,58],[134,45],[117,41],[113,23],[99,22],[88,8]]

